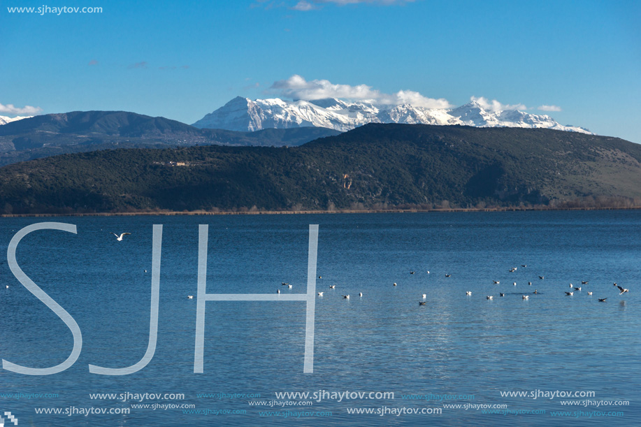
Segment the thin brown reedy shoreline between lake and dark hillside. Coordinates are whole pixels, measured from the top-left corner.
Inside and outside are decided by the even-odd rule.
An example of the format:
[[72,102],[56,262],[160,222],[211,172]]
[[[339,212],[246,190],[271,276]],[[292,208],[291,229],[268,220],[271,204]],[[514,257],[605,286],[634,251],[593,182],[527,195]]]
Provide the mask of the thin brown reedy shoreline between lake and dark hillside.
[[141,212],[82,212],[82,213],[30,213],[2,214],[0,218],[22,217],[135,217],[135,216],[178,216],[178,215],[316,215],[316,214],[373,214],[373,213],[428,213],[428,212],[526,212],[559,210],[639,210],[641,206],[603,208],[448,208],[448,209],[363,209],[363,210],[262,210],[262,211],[141,211]]

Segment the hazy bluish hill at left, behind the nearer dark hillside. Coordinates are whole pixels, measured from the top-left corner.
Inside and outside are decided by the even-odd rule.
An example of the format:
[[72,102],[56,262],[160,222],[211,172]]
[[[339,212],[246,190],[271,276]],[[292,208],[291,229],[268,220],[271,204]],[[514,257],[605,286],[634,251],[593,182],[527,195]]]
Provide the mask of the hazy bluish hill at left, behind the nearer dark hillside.
[[259,132],[198,129],[164,117],[124,111],[74,111],[40,115],[0,126],[0,166],[56,154],[120,147],[301,145],[338,133],[312,127]]

